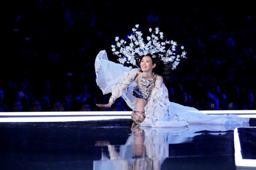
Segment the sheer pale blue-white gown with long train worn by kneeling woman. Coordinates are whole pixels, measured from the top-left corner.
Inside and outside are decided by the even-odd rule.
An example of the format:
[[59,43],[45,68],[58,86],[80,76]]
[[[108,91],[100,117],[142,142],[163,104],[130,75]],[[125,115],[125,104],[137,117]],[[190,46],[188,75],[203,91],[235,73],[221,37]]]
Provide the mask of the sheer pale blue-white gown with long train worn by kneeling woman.
[[[99,52],[95,59],[96,82],[103,94],[112,93],[115,99],[123,97],[126,104],[136,110],[133,88],[137,85],[135,76],[138,68],[126,67],[109,61],[105,50]],[[168,99],[168,90],[163,78],[157,75],[154,88],[145,106],[145,120],[141,126],[183,127],[188,124],[244,124],[249,118],[234,114],[208,115],[194,107],[183,106]]]

